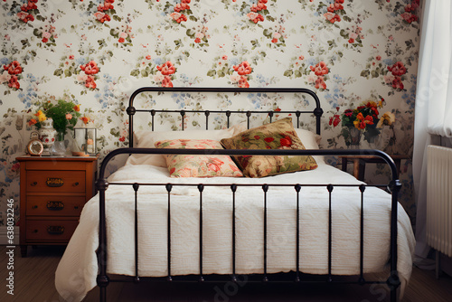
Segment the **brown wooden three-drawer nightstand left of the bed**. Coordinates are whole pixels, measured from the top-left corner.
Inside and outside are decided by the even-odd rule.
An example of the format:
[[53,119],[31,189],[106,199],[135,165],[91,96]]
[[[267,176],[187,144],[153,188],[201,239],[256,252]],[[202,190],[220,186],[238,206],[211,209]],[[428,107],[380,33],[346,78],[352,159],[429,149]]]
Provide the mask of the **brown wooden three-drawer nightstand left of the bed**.
[[67,244],[95,193],[98,157],[20,156],[20,245]]

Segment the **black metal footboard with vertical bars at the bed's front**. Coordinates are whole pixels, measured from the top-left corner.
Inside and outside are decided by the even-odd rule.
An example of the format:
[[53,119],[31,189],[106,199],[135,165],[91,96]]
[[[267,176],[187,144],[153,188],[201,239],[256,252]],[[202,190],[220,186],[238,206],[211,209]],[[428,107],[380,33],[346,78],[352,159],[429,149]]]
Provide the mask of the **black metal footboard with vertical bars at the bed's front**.
[[[322,279],[318,282],[325,282],[325,283],[341,283],[340,280],[336,280],[334,278],[334,274],[332,273],[332,207],[331,207],[331,196],[334,191],[334,187],[337,186],[357,186],[361,192],[361,222],[360,222],[360,274],[358,279],[353,280],[352,282],[347,281],[346,283],[356,283],[356,284],[376,284],[376,283],[386,283],[389,288],[391,289],[391,301],[397,300],[397,289],[400,287],[400,278],[397,272],[397,224],[398,224],[398,193],[400,192],[400,182],[397,179],[397,169],[396,165],[394,164],[393,160],[390,156],[385,154],[384,152],[381,152],[379,150],[214,150],[215,155],[225,155],[225,156],[244,156],[244,155],[250,155],[250,156],[355,156],[355,155],[370,155],[370,156],[379,156],[381,157],[391,168],[391,181],[389,184],[382,184],[382,185],[372,185],[372,186],[384,186],[387,187],[387,189],[391,192],[391,246],[390,246],[390,261],[391,261],[391,273],[389,278],[385,282],[382,281],[369,281],[366,280],[363,276],[363,261],[364,261],[364,252],[363,252],[363,192],[365,191],[366,187],[368,185],[364,184],[265,184],[266,179],[262,178],[262,184],[259,184],[259,186],[262,189],[263,196],[264,196],[264,224],[263,224],[263,266],[264,266],[264,272],[262,276],[260,276],[259,280],[254,278],[254,281],[260,281],[260,282],[272,282],[272,278],[270,277],[271,274],[268,274],[268,261],[267,261],[267,244],[268,244],[268,238],[267,238],[267,192],[268,188],[270,186],[287,186],[287,189],[295,190],[297,193],[297,254],[295,255],[295,259],[297,261],[296,263],[296,271],[293,275],[290,275],[289,282],[295,282],[297,284],[303,284],[303,283],[312,283],[312,280],[304,279],[299,271],[299,263],[300,263],[300,242],[299,242],[299,234],[300,234],[300,211],[299,211],[299,192],[302,187],[304,186],[322,186],[325,187],[325,189],[329,193],[329,211],[328,211],[328,273],[325,275],[325,279]],[[99,261],[99,275],[97,278],[97,283],[100,289],[100,301],[107,301],[107,287],[108,284],[112,281],[119,281],[119,279],[113,279],[109,278],[107,274],[107,260],[108,260],[108,250],[107,250],[107,228],[108,225],[106,223],[106,206],[107,203],[105,199],[105,192],[108,189],[108,182],[105,177],[105,171],[106,167],[108,166],[108,162],[115,156],[121,155],[121,154],[147,154],[147,155],[153,155],[153,154],[184,154],[184,155],[212,155],[212,150],[200,150],[200,149],[156,149],[156,148],[119,148],[117,150],[112,151],[108,154],[108,156],[105,157],[105,159],[102,162],[102,165],[99,170],[99,180],[97,182],[97,187],[99,190],[99,250],[98,250],[98,261]],[[200,179],[202,182],[202,179]],[[231,182],[233,182],[233,179],[231,179]],[[218,282],[219,278],[212,277],[210,275],[205,275],[203,273],[203,261],[202,261],[202,192],[206,186],[212,186],[212,185],[228,185],[231,188],[231,196],[232,196],[232,275],[230,279],[222,279],[222,281],[228,282],[239,282],[238,276],[236,274],[236,226],[235,226],[235,194],[237,191],[237,188],[244,185],[256,185],[256,184],[120,184],[115,183],[115,185],[131,185],[135,191],[135,276],[132,276],[127,279],[127,281],[136,282],[139,283],[141,281],[147,280],[147,279],[153,279],[153,278],[146,278],[139,276],[138,274],[138,259],[140,255],[138,254],[138,222],[137,222],[137,193],[140,187],[146,186],[146,185],[161,185],[165,186],[168,201],[167,201],[167,207],[168,207],[168,225],[167,225],[167,277],[164,278],[169,282],[176,281],[176,278],[172,275],[172,268],[171,268],[171,192],[175,185],[193,185],[197,188],[199,191],[199,204],[200,204],[200,212],[199,212],[199,221],[200,221],[200,230],[199,230],[199,274],[197,275],[196,279],[188,278],[188,281],[196,281],[196,282]],[[155,279],[155,278],[154,278]],[[162,278],[158,278],[162,279]],[[177,281],[180,280],[179,276],[177,277]],[[121,278],[120,281],[124,281],[124,278]],[[250,279],[251,281],[251,279]],[[278,278],[278,281],[280,279]],[[317,281],[316,281],[317,282]]]

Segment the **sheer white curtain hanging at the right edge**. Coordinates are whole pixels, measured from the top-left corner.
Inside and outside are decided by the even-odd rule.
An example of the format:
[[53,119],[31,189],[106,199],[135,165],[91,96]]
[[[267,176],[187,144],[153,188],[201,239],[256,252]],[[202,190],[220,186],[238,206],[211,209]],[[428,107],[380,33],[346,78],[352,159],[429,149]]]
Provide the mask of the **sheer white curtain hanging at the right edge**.
[[426,258],[427,153],[432,135],[452,137],[452,2],[423,5],[414,121],[413,181],[417,201],[416,255]]

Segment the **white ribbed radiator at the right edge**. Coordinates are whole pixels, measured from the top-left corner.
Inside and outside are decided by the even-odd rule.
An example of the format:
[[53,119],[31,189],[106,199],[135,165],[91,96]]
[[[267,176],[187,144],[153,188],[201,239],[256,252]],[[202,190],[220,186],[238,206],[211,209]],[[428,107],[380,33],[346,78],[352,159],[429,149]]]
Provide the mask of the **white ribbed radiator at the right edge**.
[[452,257],[452,148],[427,147],[427,243]]

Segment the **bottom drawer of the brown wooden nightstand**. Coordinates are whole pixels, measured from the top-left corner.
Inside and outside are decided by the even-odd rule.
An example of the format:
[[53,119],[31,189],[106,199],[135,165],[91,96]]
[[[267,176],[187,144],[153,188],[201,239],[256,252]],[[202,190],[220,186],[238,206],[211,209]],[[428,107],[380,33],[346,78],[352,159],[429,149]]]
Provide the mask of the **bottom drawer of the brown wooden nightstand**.
[[69,241],[78,220],[74,221],[33,221],[27,220],[27,241]]

